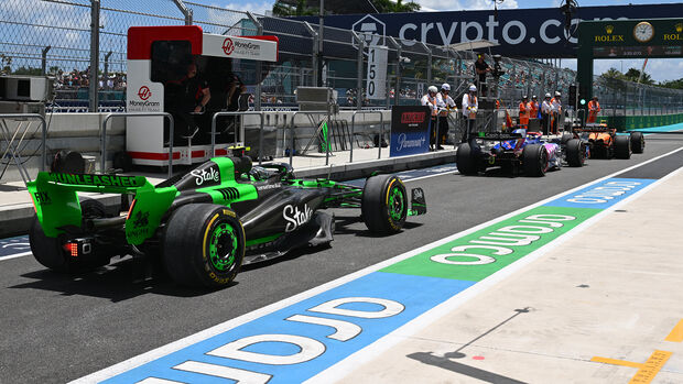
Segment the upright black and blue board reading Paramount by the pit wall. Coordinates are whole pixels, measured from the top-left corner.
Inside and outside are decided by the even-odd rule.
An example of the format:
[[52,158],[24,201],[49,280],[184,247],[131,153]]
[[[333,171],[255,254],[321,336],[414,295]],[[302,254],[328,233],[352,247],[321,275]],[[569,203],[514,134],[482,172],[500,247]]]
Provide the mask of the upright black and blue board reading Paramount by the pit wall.
[[393,106],[389,156],[405,156],[430,151],[430,107]]

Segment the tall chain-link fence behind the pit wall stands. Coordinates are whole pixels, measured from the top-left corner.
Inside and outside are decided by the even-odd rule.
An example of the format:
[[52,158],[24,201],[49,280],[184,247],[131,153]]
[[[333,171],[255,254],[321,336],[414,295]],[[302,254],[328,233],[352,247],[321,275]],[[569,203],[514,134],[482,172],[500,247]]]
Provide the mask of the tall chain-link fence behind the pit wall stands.
[[[90,7],[99,3],[99,52],[90,50]],[[191,12],[191,13],[188,13]],[[318,25],[302,21],[234,11],[194,1],[163,0],[3,0],[0,2],[0,69],[4,74],[55,77],[57,112],[88,110],[90,56],[99,57],[99,110],[124,109],[127,86],[127,32],[133,25],[182,25],[192,22],[206,33],[225,35],[270,34],[280,39],[279,63],[263,63],[261,86],[257,87],[256,64],[238,61],[234,72],[260,98],[263,108],[295,108],[295,89],[313,86],[323,61],[323,83],[338,92],[342,108],[356,108],[358,98],[366,108],[415,105],[431,85],[448,83],[456,99],[475,80],[476,53],[455,52],[443,46],[415,42],[387,44],[387,92],[380,100],[358,95],[358,78],[366,84],[367,57],[358,63],[354,32],[325,26],[323,55],[317,53]],[[384,37],[381,37],[384,40]],[[485,53],[485,61],[494,61]],[[497,78],[499,100],[514,110],[523,95],[563,94],[575,84],[575,72],[535,61],[502,58],[505,74]],[[489,76],[489,89],[496,79]],[[492,88],[491,88],[492,87]],[[679,111],[683,92],[633,83],[597,78],[596,94],[612,114],[669,113]],[[260,95],[256,95],[260,91]],[[565,102],[566,103],[566,102]]]

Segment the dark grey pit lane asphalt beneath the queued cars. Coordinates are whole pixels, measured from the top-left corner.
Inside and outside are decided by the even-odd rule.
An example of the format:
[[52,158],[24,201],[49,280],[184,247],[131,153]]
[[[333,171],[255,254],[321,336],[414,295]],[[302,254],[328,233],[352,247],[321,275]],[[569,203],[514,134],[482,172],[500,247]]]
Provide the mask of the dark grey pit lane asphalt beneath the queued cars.
[[[619,169],[683,146],[683,136],[648,135],[644,154],[592,160],[543,178],[466,177],[453,173],[406,183],[424,188],[429,213],[402,233],[373,237],[355,210],[335,210],[333,245],[246,267],[218,292],[191,290],[163,276],[144,279],[142,263],[64,276],[31,256],[0,262],[0,383],[66,382],[368,265],[471,228]],[[657,177],[683,166],[683,152],[618,177]],[[423,287],[424,288],[424,287]]]

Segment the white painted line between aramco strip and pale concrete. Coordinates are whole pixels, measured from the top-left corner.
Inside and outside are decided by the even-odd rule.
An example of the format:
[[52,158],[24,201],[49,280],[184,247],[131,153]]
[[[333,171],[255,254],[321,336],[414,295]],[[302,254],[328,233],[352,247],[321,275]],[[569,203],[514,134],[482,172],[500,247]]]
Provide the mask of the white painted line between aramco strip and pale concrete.
[[479,294],[486,292],[487,289],[489,289],[490,287],[495,286],[496,284],[505,281],[508,276],[514,274],[517,271],[519,271],[519,270],[523,268],[524,266],[527,266],[528,264],[534,262],[539,257],[541,257],[544,254],[546,254],[549,251],[552,251],[552,250],[556,249],[559,245],[561,245],[565,241],[576,237],[584,229],[595,224],[600,219],[603,219],[605,216],[614,212],[616,209],[618,209],[619,207],[624,206],[625,204],[630,202],[633,199],[637,199],[641,195],[646,194],[647,191],[649,191],[650,189],[654,188],[655,186],[658,186],[659,184],[663,183],[664,180],[669,179],[670,177],[673,177],[675,174],[681,173],[682,171],[683,171],[683,167],[679,168],[679,169],[676,169],[676,171],[674,171],[672,173],[670,173],[669,175],[666,175],[666,176],[662,177],[661,179],[659,179],[659,180],[648,185],[647,187],[643,187],[642,189],[636,191],[633,195],[625,198],[624,200],[620,200],[619,202],[615,204],[614,206],[611,206],[611,207],[609,207],[607,209],[604,209],[601,212],[590,217],[586,221],[584,221],[581,224],[574,227],[568,232],[562,234],[561,237],[559,237],[555,240],[551,241],[550,243],[543,245],[542,248],[538,249],[536,251],[534,251],[534,252],[523,256],[522,259],[517,260],[512,264],[503,267],[502,270],[499,270],[498,272],[494,273],[492,275],[489,275],[488,277],[484,278],[483,281],[479,281],[478,283],[476,283],[475,285],[470,286],[469,288],[466,288],[466,289],[462,290],[460,293],[456,294],[455,296],[453,296],[452,298],[447,299],[446,301],[444,301],[444,303],[437,305],[436,307],[425,311],[424,314],[420,315],[415,319],[413,319],[413,320],[406,322],[405,325],[397,328],[395,330],[393,330],[392,332],[386,334],[381,339],[375,341],[373,343],[369,344],[368,347],[366,347],[366,348],[359,350],[358,352],[349,355],[348,358],[342,360],[337,364],[332,365],[327,370],[318,373],[317,375],[311,377],[310,380],[305,381],[304,383],[307,383],[307,384],[314,384],[314,383],[328,384],[328,383],[334,383],[334,382],[340,381],[345,375],[348,375],[349,373],[354,372],[361,364],[367,363],[368,361],[373,360],[375,358],[377,358],[382,352],[389,350],[391,347],[393,347],[397,343],[405,340],[406,338],[418,333],[420,330],[426,328],[427,326],[430,326],[434,321],[441,319],[442,317],[444,317],[444,316],[448,315],[449,312],[452,312],[453,310],[457,309],[459,306],[462,306],[463,304],[467,303],[469,299],[478,296]]

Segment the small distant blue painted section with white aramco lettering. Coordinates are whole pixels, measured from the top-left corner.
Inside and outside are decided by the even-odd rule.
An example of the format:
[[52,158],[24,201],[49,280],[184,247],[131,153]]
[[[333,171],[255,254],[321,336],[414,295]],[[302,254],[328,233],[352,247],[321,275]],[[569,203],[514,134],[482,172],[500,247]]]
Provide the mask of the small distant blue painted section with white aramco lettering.
[[608,178],[544,204],[551,207],[606,209],[657,182],[647,178]]

